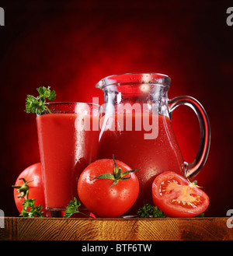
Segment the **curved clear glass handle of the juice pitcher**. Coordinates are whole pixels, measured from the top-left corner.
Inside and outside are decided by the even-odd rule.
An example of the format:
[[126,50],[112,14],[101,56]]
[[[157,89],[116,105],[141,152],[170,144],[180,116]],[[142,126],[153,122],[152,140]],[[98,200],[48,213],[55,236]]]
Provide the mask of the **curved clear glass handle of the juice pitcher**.
[[192,163],[185,162],[185,177],[192,178],[198,174],[207,160],[210,150],[210,121],[203,106],[191,96],[177,96],[169,100],[170,117],[172,111],[180,105],[191,107],[196,113],[200,124],[200,146]]

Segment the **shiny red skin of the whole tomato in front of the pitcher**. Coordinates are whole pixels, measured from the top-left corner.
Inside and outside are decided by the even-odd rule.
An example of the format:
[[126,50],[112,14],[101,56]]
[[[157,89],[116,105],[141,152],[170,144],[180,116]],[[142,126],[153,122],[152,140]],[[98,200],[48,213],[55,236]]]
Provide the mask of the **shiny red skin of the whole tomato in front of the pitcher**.
[[[122,168],[122,172],[131,170],[119,160],[116,160],[116,163],[118,168]],[[78,197],[96,216],[114,218],[123,215],[134,205],[139,193],[139,181],[134,173],[124,176],[131,177],[126,181],[118,181],[112,188],[110,186],[113,180],[90,181],[106,173],[113,174],[113,160],[97,160],[86,167],[78,179]]]

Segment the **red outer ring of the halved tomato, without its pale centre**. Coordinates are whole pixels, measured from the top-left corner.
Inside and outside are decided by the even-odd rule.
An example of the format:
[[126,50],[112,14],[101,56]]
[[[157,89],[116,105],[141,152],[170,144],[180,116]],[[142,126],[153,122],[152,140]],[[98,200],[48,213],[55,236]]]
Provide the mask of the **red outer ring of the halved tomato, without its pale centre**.
[[[203,205],[196,207],[195,209],[184,208],[179,205],[171,204],[171,197],[166,198],[164,195],[160,195],[160,186],[163,181],[168,181],[174,179],[178,181],[178,184],[183,186],[190,186],[192,189],[192,194],[199,195],[204,198]],[[176,194],[174,194],[176,196]],[[200,188],[195,187],[195,185],[190,184],[184,177],[181,177],[179,174],[176,174],[172,171],[164,172],[157,177],[152,183],[152,198],[155,206],[165,212],[165,216],[173,218],[192,218],[204,212],[209,205],[209,197],[204,193]]]

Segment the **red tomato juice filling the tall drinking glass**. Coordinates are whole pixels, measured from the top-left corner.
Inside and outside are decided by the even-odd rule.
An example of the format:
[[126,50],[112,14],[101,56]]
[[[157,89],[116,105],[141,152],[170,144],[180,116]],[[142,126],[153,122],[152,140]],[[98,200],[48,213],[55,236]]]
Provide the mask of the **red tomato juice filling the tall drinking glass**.
[[[80,128],[78,114],[43,114],[37,117],[37,132],[47,209],[64,209],[78,198],[78,177],[96,160],[99,131]],[[87,119],[85,119],[87,120]],[[96,124],[95,124],[96,125]],[[79,199],[78,199],[79,200]]]

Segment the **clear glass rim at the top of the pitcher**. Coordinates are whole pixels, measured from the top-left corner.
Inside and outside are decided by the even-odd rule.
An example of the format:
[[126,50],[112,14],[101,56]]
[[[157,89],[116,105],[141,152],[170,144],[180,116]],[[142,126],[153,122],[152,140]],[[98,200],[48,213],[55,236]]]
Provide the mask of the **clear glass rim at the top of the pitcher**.
[[[131,79],[127,78],[127,76],[133,75],[137,76],[137,79]],[[150,75],[151,80],[153,81],[148,81],[145,82],[143,79],[146,78],[146,76]],[[125,78],[123,80],[123,78]],[[117,80],[118,79],[118,80]],[[145,79],[146,80],[146,79]],[[162,73],[157,73],[157,72],[132,72],[132,73],[122,73],[122,74],[117,74],[117,75],[108,75],[105,78],[99,80],[99,82],[96,83],[96,88],[103,89],[106,86],[126,86],[126,85],[138,85],[138,83],[144,83],[144,84],[159,84],[160,86],[165,86],[169,88],[170,83],[171,83],[171,78],[169,75],[165,75]]]

